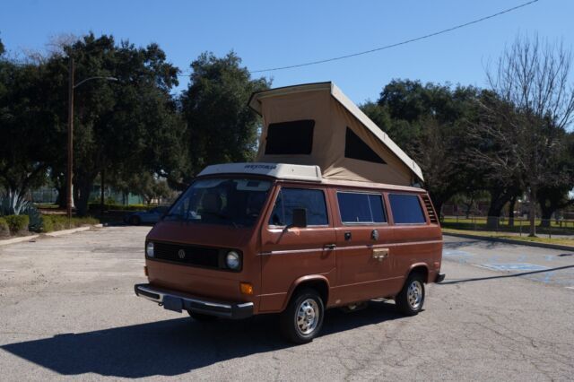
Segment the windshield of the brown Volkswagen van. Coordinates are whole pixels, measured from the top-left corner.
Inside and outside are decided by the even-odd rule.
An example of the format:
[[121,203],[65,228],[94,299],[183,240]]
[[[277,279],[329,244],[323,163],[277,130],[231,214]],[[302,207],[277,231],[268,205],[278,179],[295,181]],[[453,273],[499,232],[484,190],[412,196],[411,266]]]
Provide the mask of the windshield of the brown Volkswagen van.
[[164,220],[250,227],[257,221],[270,187],[271,181],[260,179],[198,179]]

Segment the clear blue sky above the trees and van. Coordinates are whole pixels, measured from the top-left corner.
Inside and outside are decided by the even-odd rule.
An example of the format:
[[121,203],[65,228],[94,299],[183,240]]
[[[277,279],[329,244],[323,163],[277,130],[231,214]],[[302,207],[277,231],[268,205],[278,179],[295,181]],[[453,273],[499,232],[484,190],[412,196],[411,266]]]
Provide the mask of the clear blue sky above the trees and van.
[[[160,44],[184,71],[201,52],[235,50],[250,70],[341,56],[411,39],[525,3],[483,1],[12,0],[0,39],[13,55],[44,50],[50,36],[88,31]],[[486,22],[344,61],[263,74],[274,86],[334,81],[355,102],[376,100],[393,78],[485,86],[484,70],[517,33],[574,45],[574,1],[538,3]],[[180,89],[187,77],[180,77]]]

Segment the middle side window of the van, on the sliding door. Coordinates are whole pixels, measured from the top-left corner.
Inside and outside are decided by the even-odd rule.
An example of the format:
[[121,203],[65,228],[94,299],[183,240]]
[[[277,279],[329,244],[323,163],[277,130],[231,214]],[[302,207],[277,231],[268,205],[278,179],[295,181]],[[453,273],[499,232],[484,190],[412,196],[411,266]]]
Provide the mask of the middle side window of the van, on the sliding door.
[[383,199],[379,194],[338,192],[337,202],[344,223],[387,222]]

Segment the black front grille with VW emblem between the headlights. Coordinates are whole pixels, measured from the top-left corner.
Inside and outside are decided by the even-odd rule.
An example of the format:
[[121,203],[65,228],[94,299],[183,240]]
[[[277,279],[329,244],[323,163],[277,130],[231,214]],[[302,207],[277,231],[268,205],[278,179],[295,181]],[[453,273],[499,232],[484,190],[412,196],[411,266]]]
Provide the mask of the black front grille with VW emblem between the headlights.
[[[180,256],[179,251],[183,251]],[[180,244],[153,243],[154,258],[178,264],[219,268],[220,250],[210,247],[186,246]]]

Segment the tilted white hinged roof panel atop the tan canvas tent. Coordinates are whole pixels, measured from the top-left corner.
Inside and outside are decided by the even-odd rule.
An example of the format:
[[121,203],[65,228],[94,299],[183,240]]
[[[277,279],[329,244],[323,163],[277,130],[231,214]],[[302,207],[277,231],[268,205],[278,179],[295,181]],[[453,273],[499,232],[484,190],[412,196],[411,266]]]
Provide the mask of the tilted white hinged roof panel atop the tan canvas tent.
[[341,105],[347,109],[353,117],[357,118],[361,124],[367,129],[369,129],[370,133],[375,135],[380,142],[385,144],[388,149],[393,152],[396,157],[403,161],[404,164],[413,171],[413,173],[423,180],[422,178],[422,170],[419,165],[413,161],[411,157],[409,157],[388,135],[387,133],[383,132],[378,126],[370,120],[370,117],[367,117],[365,113],[361,111],[355,105],[352,100],[349,100],[347,96],[344,95],[343,91],[339,89],[335,83],[333,82],[317,82],[317,83],[307,83],[304,85],[294,85],[294,86],[285,86],[283,88],[276,88],[271,89],[268,91],[260,91],[254,93],[251,96],[248,104],[251,109],[254,109],[259,115],[262,114],[261,110],[261,102],[260,100],[268,98],[268,97],[276,97],[280,95],[292,94],[296,92],[303,92],[303,91],[326,91],[329,90],[331,92],[331,96],[335,98]]

